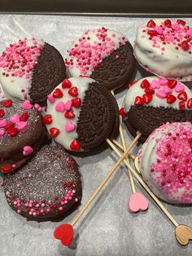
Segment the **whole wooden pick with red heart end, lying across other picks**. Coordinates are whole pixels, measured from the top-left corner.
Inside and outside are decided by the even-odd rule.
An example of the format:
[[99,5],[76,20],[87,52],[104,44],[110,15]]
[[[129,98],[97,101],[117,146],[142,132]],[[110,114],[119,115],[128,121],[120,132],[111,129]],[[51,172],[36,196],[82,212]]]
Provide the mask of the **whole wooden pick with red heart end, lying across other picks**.
[[95,190],[95,192],[90,196],[89,200],[86,201],[83,208],[80,210],[80,212],[76,215],[75,218],[72,219],[72,222],[70,224],[63,224],[59,227],[55,228],[54,236],[56,239],[59,239],[63,245],[71,245],[72,238],[73,238],[73,227],[78,222],[78,220],[81,218],[82,214],[85,213],[85,210],[89,207],[89,205],[94,201],[94,198],[98,195],[98,192],[101,191],[103,186],[107,183],[107,180],[111,178],[111,175],[116,171],[118,166],[120,166],[120,163],[124,161],[124,158],[127,156],[131,148],[133,148],[133,145],[137,143],[137,140],[140,138],[141,134],[138,133],[135,139],[133,139],[133,142],[129,145],[129,147],[126,149],[123,155],[121,155],[120,159],[116,162],[116,165],[113,166],[113,168],[110,170],[110,172],[107,174],[106,178],[103,180],[103,182],[98,186],[98,188]]

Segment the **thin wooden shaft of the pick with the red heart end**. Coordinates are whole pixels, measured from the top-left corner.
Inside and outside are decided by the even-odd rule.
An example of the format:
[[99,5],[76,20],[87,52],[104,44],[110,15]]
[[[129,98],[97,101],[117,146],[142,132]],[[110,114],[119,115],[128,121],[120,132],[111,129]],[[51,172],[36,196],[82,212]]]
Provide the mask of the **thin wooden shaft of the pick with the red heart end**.
[[110,179],[111,175],[115,172],[115,170],[120,166],[120,163],[124,161],[124,158],[127,156],[131,148],[133,148],[133,145],[137,143],[137,140],[140,138],[141,134],[138,133],[135,139],[133,139],[133,142],[129,145],[129,147],[126,149],[123,155],[120,156],[120,159],[116,162],[116,165],[113,166],[113,168],[110,170],[110,172],[107,174],[106,178],[103,180],[103,182],[98,186],[98,188],[95,190],[92,196],[90,196],[89,200],[86,201],[83,208],[80,210],[80,212],[76,215],[75,218],[72,219],[72,227],[77,223],[79,218],[81,218],[81,215],[84,214],[85,210],[89,207],[92,201],[94,201],[94,198],[98,195],[98,192],[103,188],[105,183],[107,183],[107,180]]

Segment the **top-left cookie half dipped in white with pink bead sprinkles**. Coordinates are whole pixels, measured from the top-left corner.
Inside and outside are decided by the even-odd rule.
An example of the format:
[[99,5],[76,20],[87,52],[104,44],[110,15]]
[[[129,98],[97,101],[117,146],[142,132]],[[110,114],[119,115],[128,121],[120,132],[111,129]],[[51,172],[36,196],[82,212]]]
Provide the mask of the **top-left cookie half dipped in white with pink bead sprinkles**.
[[62,55],[54,46],[32,39],[13,43],[0,57],[0,79],[9,99],[30,99],[41,106],[66,77]]

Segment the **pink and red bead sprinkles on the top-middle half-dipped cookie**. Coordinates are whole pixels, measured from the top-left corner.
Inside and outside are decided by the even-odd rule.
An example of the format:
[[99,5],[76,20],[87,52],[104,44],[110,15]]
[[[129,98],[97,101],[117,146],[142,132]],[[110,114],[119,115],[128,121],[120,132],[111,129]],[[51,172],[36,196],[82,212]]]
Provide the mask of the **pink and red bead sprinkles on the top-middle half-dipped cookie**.
[[[79,38],[78,43],[75,43],[71,50],[68,51],[71,59],[65,59],[65,64],[68,68],[79,68],[83,75],[86,75],[89,70],[93,70],[98,67],[98,64],[102,63],[102,60],[111,55],[116,50],[116,44],[112,38],[119,40],[119,45],[125,45],[125,38],[119,37],[116,33],[112,33],[112,38],[107,35],[107,29],[97,29],[95,35],[98,38],[94,42],[90,42],[92,39],[89,36],[89,30],[85,31],[85,35]],[[74,59],[76,63],[74,64]],[[116,59],[119,56],[116,55]],[[89,73],[88,73],[89,76]]]

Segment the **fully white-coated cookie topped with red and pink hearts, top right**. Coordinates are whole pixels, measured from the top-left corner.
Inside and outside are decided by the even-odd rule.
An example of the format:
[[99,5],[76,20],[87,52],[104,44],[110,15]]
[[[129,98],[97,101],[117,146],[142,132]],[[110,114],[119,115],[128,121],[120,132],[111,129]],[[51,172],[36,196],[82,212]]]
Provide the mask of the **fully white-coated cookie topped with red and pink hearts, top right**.
[[192,28],[185,20],[148,20],[137,29],[134,55],[159,77],[192,81]]

